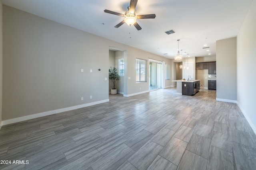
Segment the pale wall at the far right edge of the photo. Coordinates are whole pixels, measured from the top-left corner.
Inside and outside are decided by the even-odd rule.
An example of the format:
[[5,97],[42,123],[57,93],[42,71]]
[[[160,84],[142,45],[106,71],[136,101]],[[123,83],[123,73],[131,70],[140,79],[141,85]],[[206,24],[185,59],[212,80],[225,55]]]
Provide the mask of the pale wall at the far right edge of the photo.
[[256,133],[255,64],[256,64],[256,0],[252,1],[237,36],[237,102]]

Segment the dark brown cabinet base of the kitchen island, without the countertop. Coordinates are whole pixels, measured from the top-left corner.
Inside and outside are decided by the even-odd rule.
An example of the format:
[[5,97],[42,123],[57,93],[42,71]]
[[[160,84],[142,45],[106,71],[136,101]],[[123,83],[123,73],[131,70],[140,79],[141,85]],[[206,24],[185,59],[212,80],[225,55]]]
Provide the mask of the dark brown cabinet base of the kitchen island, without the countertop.
[[182,95],[192,96],[200,90],[200,81],[182,82]]

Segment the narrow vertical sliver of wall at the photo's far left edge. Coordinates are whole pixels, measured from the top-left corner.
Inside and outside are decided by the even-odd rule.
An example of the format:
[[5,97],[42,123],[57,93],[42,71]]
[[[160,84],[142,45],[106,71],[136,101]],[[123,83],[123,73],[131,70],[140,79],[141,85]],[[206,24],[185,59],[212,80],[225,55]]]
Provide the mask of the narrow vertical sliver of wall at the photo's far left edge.
[[0,2],[0,129],[2,125],[2,87],[3,87],[3,5]]

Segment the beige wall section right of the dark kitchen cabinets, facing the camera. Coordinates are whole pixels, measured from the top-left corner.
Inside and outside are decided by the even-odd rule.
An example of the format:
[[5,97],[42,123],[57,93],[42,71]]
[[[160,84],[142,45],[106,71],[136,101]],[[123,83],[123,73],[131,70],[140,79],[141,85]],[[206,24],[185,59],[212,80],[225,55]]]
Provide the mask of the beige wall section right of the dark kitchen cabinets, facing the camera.
[[216,99],[236,101],[236,37],[216,41]]

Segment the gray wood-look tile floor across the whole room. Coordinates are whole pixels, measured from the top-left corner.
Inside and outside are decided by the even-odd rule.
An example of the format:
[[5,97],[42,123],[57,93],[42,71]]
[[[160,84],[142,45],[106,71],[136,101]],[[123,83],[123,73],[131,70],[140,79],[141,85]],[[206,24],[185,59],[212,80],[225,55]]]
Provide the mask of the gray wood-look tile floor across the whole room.
[[175,88],[5,125],[0,169],[255,169],[256,135],[239,107],[216,91]]

